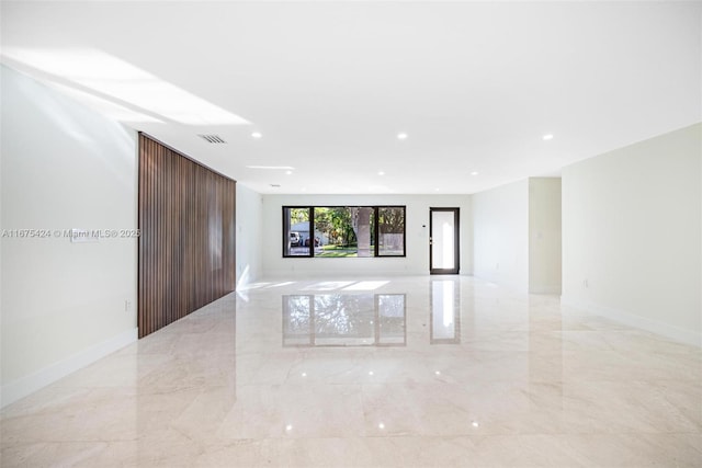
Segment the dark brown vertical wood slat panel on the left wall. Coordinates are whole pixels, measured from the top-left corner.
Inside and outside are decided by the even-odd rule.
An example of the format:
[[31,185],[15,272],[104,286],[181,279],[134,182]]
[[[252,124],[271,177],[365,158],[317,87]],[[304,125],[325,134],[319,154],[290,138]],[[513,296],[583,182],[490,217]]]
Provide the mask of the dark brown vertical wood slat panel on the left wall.
[[236,181],[139,135],[139,338],[235,289]]

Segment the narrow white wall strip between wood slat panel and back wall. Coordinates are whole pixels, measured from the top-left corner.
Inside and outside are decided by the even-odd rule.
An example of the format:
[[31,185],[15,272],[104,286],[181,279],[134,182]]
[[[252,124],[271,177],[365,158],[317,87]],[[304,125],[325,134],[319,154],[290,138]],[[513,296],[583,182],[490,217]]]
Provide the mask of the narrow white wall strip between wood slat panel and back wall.
[[237,184],[237,288],[261,277],[263,196]]

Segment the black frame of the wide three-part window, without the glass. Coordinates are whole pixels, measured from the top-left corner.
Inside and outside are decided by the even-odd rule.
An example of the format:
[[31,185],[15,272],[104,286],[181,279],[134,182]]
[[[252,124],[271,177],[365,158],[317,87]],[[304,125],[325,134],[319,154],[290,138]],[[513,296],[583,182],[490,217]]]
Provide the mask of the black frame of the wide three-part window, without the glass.
[[[309,252],[307,254],[291,255],[290,250],[290,210],[291,209],[308,209],[309,213],[309,232],[315,232],[315,209],[316,208],[372,208],[373,209],[373,222],[375,228],[373,230],[373,256],[365,256],[366,259],[397,259],[407,256],[407,205],[283,205],[282,207],[282,240],[283,240],[283,258],[284,259],[324,259],[331,256],[315,255],[314,241],[310,242]],[[403,253],[401,254],[381,254],[380,251],[380,209],[393,208],[403,210]],[[356,259],[358,256],[351,256]]]

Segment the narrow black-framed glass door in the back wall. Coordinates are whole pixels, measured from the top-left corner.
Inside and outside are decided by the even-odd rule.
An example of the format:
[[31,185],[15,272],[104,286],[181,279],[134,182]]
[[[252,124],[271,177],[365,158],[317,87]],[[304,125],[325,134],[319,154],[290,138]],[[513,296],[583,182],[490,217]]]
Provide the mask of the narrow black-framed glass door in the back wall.
[[458,273],[458,208],[429,208],[429,272]]

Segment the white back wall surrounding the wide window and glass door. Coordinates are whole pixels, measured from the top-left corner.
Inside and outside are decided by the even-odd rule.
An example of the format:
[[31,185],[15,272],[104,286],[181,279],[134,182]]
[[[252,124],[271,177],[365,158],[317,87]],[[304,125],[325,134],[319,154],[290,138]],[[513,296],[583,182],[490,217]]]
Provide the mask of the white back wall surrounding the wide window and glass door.
[[[405,205],[406,258],[284,259],[282,207],[285,205]],[[429,208],[461,208],[461,273],[472,272],[468,195],[264,195],[263,271],[267,276],[429,274]]]

